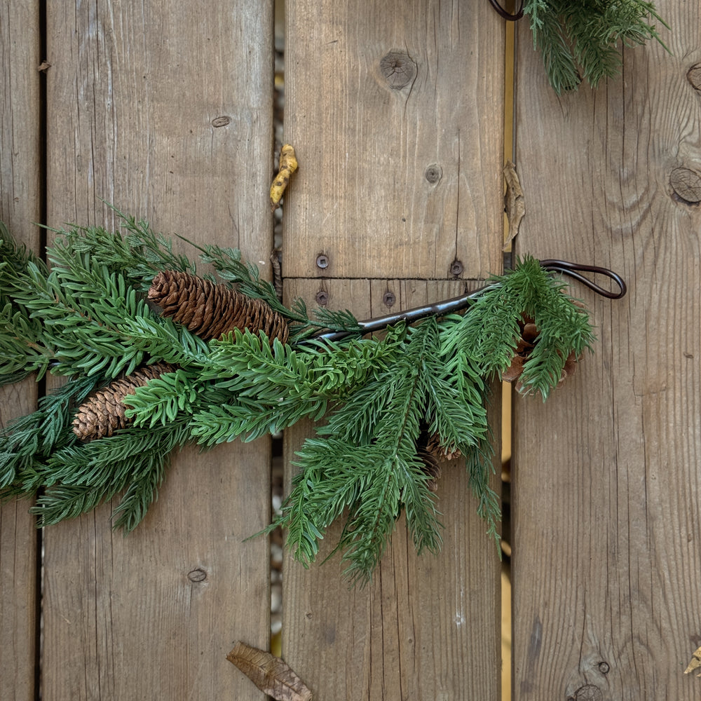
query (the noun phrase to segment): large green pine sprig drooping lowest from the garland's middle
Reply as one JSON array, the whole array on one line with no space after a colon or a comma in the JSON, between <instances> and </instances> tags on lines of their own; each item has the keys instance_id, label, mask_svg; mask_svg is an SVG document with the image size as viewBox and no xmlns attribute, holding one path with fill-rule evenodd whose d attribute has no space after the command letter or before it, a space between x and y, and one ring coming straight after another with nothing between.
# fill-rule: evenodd
<instances>
[{"instance_id":1,"label":"large green pine sprig drooping lowest from the garland's middle","mask_svg":"<svg viewBox=\"0 0 701 701\"><path fill-rule=\"evenodd\" d=\"M437 346L434 319L407 329L391 370L370 382L380 382L385 397L374 428L355 411L351 395L351 401L318 430L318 437L302 447L298 464L303 469L279 519L289 529L287 544L300 562L313 560L319 537L313 534L324 533L346 508L349 515L338 547L348 564L346 576L354 583L372 578L402 508L407 509L417 550L440 547L435 503L416 457L432 379L427 361Z\"/></svg>"}]
</instances>

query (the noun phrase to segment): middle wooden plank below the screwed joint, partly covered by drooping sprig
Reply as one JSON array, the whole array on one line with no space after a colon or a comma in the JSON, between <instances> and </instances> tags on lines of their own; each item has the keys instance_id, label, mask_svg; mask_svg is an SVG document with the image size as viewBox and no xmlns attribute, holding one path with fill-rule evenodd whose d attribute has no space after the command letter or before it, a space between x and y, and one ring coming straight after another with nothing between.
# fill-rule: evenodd
<instances>
[{"instance_id":1,"label":"middle wooden plank below the screwed joint, partly covered by drooping sprig","mask_svg":"<svg viewBox=\"0 0 701 701\"><path fill-rule=\"evenodd\" d=\"M323 289L329 304L352 301L353 311L365 318L388 311L383 301L388 291L397 306L409 308L464 289L464 283L426 280L286 280L285 285L287 299L302 297L312 308ZM498 435L497 414L495 407L492 425ZM285 431L288 493L294 472L290 456L309 431L309 426ZM308 570L285 559L283 655L315 697L499 697L499 562L475 512L463 461L443 466L437 496L446 526L442 552L417 556L402 517L372 584L362 590L348 590L337 554ZM318 563L340 533L339 524L327 531Z\"/></svg>"}]
</instances>

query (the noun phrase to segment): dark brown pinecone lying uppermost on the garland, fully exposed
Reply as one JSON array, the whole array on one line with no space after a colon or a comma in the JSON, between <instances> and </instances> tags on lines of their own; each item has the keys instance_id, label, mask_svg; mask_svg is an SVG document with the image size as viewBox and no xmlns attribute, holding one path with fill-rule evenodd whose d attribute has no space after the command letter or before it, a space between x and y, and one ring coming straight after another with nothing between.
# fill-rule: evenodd
<instances>
[{"instance_id":1,"label":"dark brown pinecone lying uppermost on the garland, fully exposed","mask_svg":"<svg viewBox=\"0 0 701 701\"><path fill-rule=\"evenodd\" d=\"M253 334L262 329L271 341L287 343L287 321L266 301L190 273L158 273L151 283L149 299L163 308L164 316L205 341L218 339L233 329L249 329Z\"/></svg>"}]
</instances>

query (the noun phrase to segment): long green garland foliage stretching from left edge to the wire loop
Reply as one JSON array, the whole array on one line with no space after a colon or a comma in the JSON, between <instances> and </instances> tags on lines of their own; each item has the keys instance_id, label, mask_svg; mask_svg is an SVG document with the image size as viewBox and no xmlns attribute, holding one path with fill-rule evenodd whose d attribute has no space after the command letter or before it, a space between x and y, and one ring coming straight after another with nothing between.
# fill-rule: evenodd
<instances>
[{"instance_id":1,"label":"long green garland foliage stretching from left edge to the wire loop","mask_svg":"<svg viewBox=\"0 0 701 701\"><path fill-rule=\"evenodd\" d=\"M477 508L498 539L490 380L510 364L524 314L540 340L523 386L543 399L567 355L593 341L583 308L538 261L493 278L461 315L402 322L380 338L362 337L348 311L310 318L301 301L286 308L240 252L198 247L198 262L215 271L210 279L264 299L290 322L284 345L246 329L205 342L158 315L145 294L159 271L195 272L195 262L145 222L123 222L124 236L95 227L57 232L49 265L0 231L0 381L46 372L67 378L0 434L2 496L39 492L40 525L120 496L114 525L130 530L156 498L172 451L255 440L306 417L315 435L297 454L294 488L271 526L285 526L304 564L340 517L338 548L354 582L372 576L402 511L418 551L440 548L440 514L417 453L422 430L465 456ZM320 339L320 329L348 336ZM72 418L93 390L161 360L177 369L128 395L128 428L78 440Z\"/></svg>"}]
</instances>

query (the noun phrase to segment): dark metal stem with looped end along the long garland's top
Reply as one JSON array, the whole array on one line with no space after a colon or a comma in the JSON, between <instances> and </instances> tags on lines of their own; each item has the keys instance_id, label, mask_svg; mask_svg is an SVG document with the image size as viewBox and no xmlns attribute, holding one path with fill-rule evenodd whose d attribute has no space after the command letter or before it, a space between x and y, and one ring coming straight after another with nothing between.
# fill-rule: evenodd
<instances>
[{"instance_id":1,"label":"dark metal stem with looped end along the long garland's top","mask_svg":"<svg viewBox=\"0 0 701 701\"><path fill-rule=\"evenodd\" d=\"M608 268L601 268L596 265L580 265L578 263L571 263L570 261L563 261L558 259L547 259L540 261L540 266L550 273L560 273L562 275L568 275L570 278L577 280L579 283L589 287L597 294L601 294L602 297L607 297L608 299L620 299L626 292L626 286L623 278L621 278L618 273L614 273ZM606 290L601 285L597 285L590 278L582 273L595 273L596 275L604 275L604 277L613 280L613 282L618 285L618 290ZM479 290L474 292L469 292L468 294L463 294L461 297L453 297L451 299L444 299L444 301L435 302L434 304L425 304L420 307L414 307L412 309L407 309L405 311L395 312L394 314L388 314L385 316L380 316L376 319L368 319L366 321L360 321L360 331L358 332L348 332L348 331L330 331L322 334L317 334L313 336L315 339L325 340L325 341L340 341L348 336L365 336L365 334L372 334L377 331L381 331L388 326L398 324L400 322L407 322L409 324L418 321L420 319L426 318L428 316L443 316L446 314L451 314L456 311L462 311L464 308L470 306L470 302L476 299L481 294L486 292L486 290L491 290L494 287L498 287L499 283L490 283L484 287L480 287Z\"/></svg>"}]
</instances>

